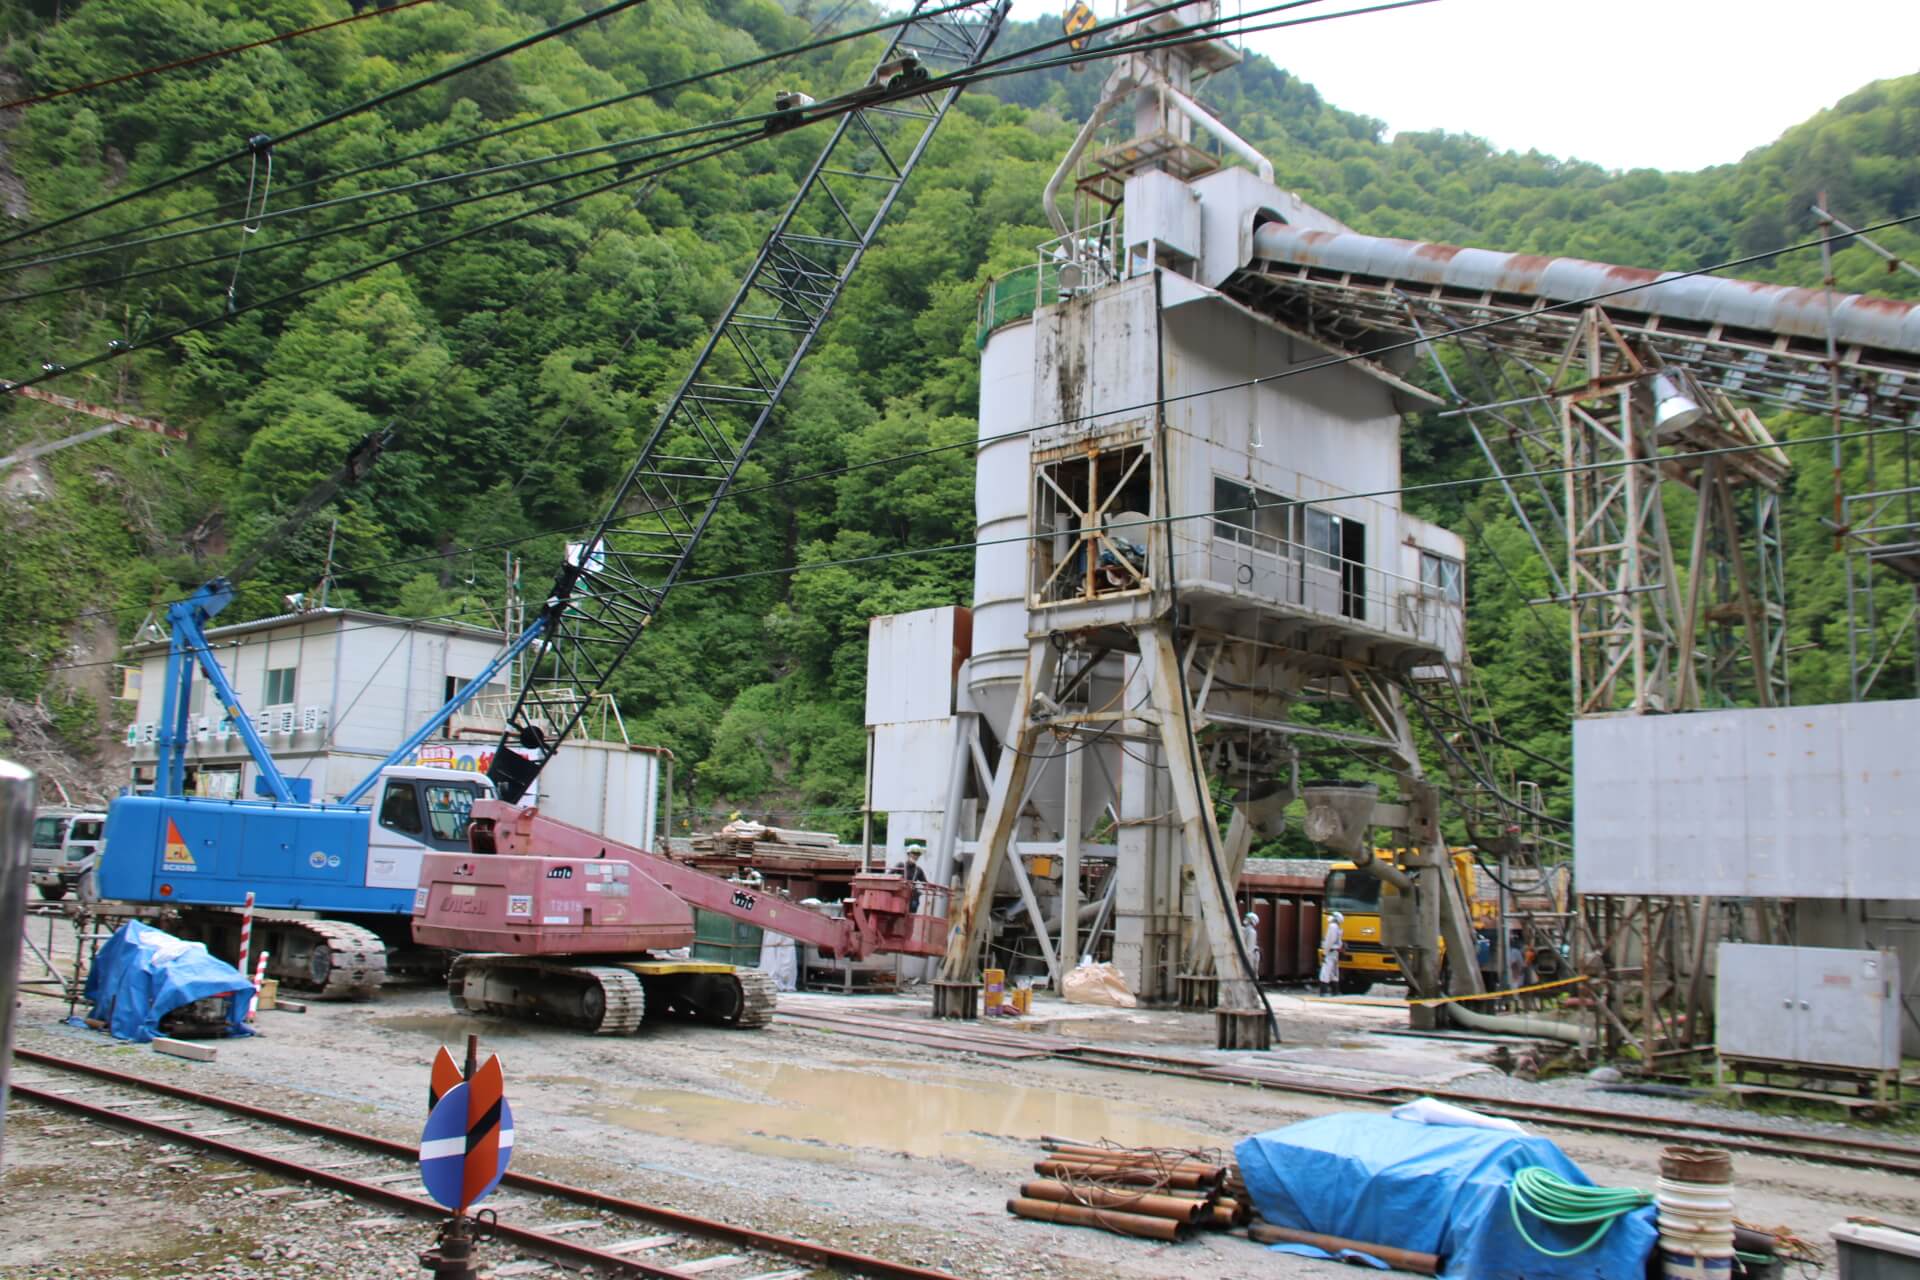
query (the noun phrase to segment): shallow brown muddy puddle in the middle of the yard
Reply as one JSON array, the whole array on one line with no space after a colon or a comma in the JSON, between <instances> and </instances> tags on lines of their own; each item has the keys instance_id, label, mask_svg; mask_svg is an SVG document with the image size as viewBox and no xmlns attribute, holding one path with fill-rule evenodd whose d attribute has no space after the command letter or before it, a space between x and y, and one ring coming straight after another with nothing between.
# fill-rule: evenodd
<instances>
[{"instance_id":1,"label":"shallow brown muddy puddle in the middle of the yard","mask_svg":"<svg viewBox=\"0 0 1920 1280\"><path fill-rule=\"evenodd\" d=\"M1212 1146L1164 1123L1146 1107L1041 1086L970 1086L831 1067L774 1065L737 1071L735 1084L758 1100L691 1090L626 1090L595 1117L639 1132L710 1142L766 1155L849 1161L856 1151L1004 1161L1041 1134L1125 1146Z\"/></svg>"}]
</instances>

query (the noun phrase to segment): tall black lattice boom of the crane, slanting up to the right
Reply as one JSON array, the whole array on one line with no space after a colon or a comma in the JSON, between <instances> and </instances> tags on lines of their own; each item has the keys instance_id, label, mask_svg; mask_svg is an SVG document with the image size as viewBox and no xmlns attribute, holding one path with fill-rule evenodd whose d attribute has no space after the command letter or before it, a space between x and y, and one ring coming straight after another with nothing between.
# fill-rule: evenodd
<instances>
[{"instance_id":1,"label":"tall black lattice boom of the crane, slanting up to the right","mask_svg":"<svg viewBox=\"0 0 1920 1280\"><path fill-rule=\"evenodd\" d=\"M833 136L760 246L733 301L614 489L593 533L568 553L541 608L540 651L488 775L518 800L666 603L741 462L860 265L893 201L960 96L899 90L985 58L1008 0L939 8L918 0L876 63L876 102ZM770 121L780 132L787 121ZM518 750L515 750L518 748Z\"/></svg>"}]
</instances>

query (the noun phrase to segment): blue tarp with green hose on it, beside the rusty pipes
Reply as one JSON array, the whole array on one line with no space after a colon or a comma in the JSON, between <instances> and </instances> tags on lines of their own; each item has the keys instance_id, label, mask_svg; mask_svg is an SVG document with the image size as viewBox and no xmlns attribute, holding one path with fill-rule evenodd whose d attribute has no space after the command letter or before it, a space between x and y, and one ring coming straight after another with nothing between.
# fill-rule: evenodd
<instances>
[{"instance_id":1,"label":"blue tarp with green hose on it, beside the rusty pipes","mask_svg":"<svg viewBox=\"0 0 1920 1280\"><path fill-rule=\"evenodd\" d=\"M1548 1257L1521 1240L1507 1211L1517 1169L1544 1165L1592 1186L1546 1138L1390 1115L1323 1115L1242 1138L1235 1157L1265 1221L1438 1253L1440 1274L1457 1280L1638 1280L1657 1240L1651 1205L1619 1219L1578 1257ZM1544 1245L1569 1249L1594 1228L1534 1219L1526 1230Z\"/></svg>"}]
</instances>

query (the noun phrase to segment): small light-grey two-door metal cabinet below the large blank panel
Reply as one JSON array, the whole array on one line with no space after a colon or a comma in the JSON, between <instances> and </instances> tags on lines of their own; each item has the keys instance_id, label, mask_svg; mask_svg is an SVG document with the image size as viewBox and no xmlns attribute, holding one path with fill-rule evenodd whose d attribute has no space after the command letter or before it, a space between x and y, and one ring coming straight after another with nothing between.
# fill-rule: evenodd
<instances>
[{"instance_id":1,"label":"small light-grey two-door metal cabinet below the large blank panel","mask_svg":"<svg viewBox=\"0 0 1920 1280\"><path fill-rule=\"evenodd\" d=\"M1716 996L1720 1057L1901 1065L1901 969L1891 950L1722 942Z\"/></svg>"}]
</instances>

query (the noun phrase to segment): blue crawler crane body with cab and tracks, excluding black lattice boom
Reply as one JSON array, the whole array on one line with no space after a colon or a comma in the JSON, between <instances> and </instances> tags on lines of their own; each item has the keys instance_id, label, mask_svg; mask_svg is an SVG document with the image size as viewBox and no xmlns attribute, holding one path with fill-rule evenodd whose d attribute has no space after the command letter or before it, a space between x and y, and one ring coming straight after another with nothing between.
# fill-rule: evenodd
<instances>
[{"instance_id":1,"label":"blue crawler crane body with cab and tracks, excluding black lattice boom","mask_svg":"<svg viewBox=\"0 0 1920 1280\"><path fill-rule=\"evenodd\" d=\"M240 908L252 892L252 948L255 956L271 954L269 977L321 996L372 996L390 958L399 961L396 967L444 969L444 956L409 940L420 854L465 850L472 802L492 796L493 787L468 771L397 762L532 645L545 618L534 620L338 802L315 802L313 779L286 777L275 764L207 645L207 622L230 601L232 585L213 580L167 610L154 794L123 794L108 808L96 873L102 912L165 913L180 936L234 956ZM196 670L259 766L255 800L184 794ZM374 789L378 802L363 804Z\"/></svg>"}]
</instances>

